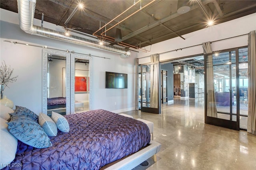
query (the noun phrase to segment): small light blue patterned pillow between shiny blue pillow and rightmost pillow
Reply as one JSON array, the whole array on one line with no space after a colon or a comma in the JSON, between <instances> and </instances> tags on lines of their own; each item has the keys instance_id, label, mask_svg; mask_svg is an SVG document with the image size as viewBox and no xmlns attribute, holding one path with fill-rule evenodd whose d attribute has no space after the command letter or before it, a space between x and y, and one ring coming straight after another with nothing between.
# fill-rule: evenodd
<instances>
[{"instance_id":1,"label":"small light blue patterned pillow between shiny blue pillow and rightmost pillow","mask_svg":"<svg viewBox=\"0 0 256 170\"><path fill-rule=\"evenodd\" d=\"M55 122L46 114L40 113L38 116L38 123L44 129L48 136L56 136L58 133Z\"/></svg>"}]
</instances>

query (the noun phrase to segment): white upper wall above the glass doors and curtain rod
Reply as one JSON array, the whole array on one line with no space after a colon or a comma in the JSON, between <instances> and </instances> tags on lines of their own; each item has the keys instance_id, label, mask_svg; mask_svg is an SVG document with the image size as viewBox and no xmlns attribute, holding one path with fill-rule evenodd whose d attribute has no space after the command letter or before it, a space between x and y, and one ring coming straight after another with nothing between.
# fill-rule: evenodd
<instances>
[{"instance_id":1,"label":"white upper wall above the glass doors and curtain rod","mask_svg":"<svg viewBox=\"0 0 256 170\"><path fill-rule=\"evenodd\" d=\"M137 57L146 57L143 59L139 59L139 64L150 63L150 57L147 56L150 56L151 54L164 53L167 51L182 49L193 45L199 46L173 51L162 55L160 54L160 61L175 59L178 57L186 57L190 55L198 55L203 53L203 48L201 44L207 41L217 41L212 43L212 51L242 47L248 45L248 35L223 41L218 40L247 34L253 30L256 30L256 13L225 23L220 23L218 25L214 25L205 29L194 31L186 35L182 35L185 40L180 37L176 37L173 39L162 41L160 43L153 44L150 52L139 52L137 54ZM146 47L146 49L150 49L150 47L148 46Z\"/></svg>"}]
</instances>

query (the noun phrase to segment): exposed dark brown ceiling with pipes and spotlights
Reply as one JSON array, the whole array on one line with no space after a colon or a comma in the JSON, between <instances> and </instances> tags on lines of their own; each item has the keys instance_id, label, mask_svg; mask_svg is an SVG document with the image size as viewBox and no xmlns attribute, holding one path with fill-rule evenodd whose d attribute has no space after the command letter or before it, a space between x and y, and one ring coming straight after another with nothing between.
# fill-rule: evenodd
<instances>
[{"instance_id":1,"label":"exposed dark brown ceiling with pipes and spotlights","mask_svg":"<svg viewBox=\"0 0 256 170\"><path fill-rule=\"evenodd\" d=\"M79 2L83 9L75 10ZM183 2L190 10L179 14ZM16 0L0 3L1 8L18 12ZM256 0L37 0L34 18L44 16L44 21L62 26L63 32L96 35L110 45L143 51L142 47L167 39L184 39L182 35L208 27L208 19L219 24L255 12ZM121 42L115 41L116 28L121 29Z\"/></svg>"}]
</instances>

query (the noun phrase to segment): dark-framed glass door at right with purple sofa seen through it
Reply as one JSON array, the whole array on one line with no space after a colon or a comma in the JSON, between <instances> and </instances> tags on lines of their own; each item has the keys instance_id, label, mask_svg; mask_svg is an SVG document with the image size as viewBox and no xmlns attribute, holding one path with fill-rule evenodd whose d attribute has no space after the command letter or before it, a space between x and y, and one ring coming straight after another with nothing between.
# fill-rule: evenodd
<instances>
[{"instance_id":1,"label":"dark-framed glass door at right with purple sofa seen through it","mask_svg":"<svg viewBox=\"0 0 256 170\"><path fill-rule=\"evenodd\" d=\"M204 55L205 123L239 130L248 116L248 49ZM240 115L241 113L241 115ZM240 121L242 121L240 124Z\"/></svg>"}]
</instances>

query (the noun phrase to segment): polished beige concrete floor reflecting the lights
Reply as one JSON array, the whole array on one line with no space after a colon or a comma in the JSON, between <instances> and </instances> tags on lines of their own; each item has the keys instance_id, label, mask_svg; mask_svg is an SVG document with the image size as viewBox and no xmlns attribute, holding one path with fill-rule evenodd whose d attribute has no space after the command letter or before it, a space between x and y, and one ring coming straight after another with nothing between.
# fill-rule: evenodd
<instances>
[{"instance_id":1,"label":"polished beige concrete floor reflecting the lights","mask_svg":"<svg viewBox=\"0 0 256 170\"><path fill-rule=\"evenodd\" d=\"M162 113L123 112L154 123L157 162L134 170L256 170L256 136L204 123L204 102L174 99Z\"/></svg>"}]
</instances>

